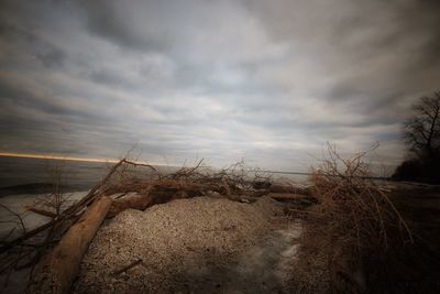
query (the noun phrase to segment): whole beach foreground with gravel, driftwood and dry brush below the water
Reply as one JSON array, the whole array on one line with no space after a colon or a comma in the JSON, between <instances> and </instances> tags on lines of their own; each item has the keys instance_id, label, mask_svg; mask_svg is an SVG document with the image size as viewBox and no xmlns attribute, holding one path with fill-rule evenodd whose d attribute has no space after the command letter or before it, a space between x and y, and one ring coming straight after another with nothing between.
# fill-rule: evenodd
<instances>
[{"instance_id":1,"label":"whole beach foreground with gravel, driftwood and dry brush below the water","mask_svg":"<svg viewBox=\"0 0 440 294\"><path fill-rule=\"evenodd\" d=\"M438 186L341 176L336 170L316 171L310 186L250 177L244 165L212 172L200 163L172 173L145 165L153 173L141 176L125 173L138 163L121 160L91 189L61 194L67 202L58 214L38 206L56 194L2 196L2 259L10 270L0 276L2 291L354 293L374 281L366 280L366 271L382 271L375 265L378 254L408 255L410 270L397 261L383 263L395 276L426 275L437 266L430 254L438 242L431 233L438 230ZM369 218L360 220L363 215ZM362 242L359 221L365 226ZM377 231L385 221L386 229ZM31 257L43 254L21 266L30 261L23 248ZM364 253L360 263L361 248L376 254ZM11 262L15 257L19 263ZM435 277L422 288L436 286Z\"/></svg>"}]
</instances>

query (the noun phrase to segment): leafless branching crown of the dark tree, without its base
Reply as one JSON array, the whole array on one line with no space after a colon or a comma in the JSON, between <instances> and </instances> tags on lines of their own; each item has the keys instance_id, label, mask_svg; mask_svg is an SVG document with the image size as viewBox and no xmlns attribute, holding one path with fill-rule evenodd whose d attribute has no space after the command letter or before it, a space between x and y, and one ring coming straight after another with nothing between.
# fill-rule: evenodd
<instances>
[{"instance_id":1,"label":"leafless branching crown of the dark tree, without its base","mask_svg":"<svg viewBox=\"0 0 440 294\"><path fill-rule=\"evenodd\" d=\"M432 156L440 149L440 91L424 96L413 105L413 116L404 127L404 138L410 151L419 156Z\"/></svg>"}]
</instances>

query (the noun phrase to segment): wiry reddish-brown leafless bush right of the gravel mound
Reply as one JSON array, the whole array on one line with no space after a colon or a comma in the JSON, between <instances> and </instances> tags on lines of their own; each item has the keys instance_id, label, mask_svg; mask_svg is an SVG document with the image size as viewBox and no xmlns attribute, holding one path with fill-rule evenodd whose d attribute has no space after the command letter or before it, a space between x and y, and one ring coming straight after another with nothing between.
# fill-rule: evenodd
<instances>
[{"instance_id":1,"label":"wiry reddish-brown leafless bush right of the gravel mound","mask_svg":"<svg viewBox=\"0 0 440 294\"><path fill-rule=\"evenodd\" d=\"M358 253L387 250L389 233L398 232L403 242L413 242L408 226L387 196L389 190L376 184L370 172L364 161L367 152L345 160L329 144L328 157L311 175L312 193L320 204L318 218L326 219L334 233L352 239Z\"/></svg>"}]
</instances>

